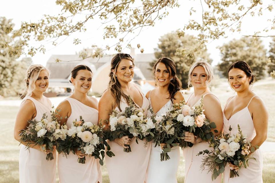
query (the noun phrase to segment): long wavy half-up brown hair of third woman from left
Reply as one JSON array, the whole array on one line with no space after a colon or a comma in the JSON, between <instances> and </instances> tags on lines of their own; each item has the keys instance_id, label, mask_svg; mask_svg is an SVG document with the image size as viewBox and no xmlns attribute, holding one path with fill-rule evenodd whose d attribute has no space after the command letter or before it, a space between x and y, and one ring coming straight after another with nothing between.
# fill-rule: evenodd
<instances>
[{"instance_id":1,"label":"long wavy half-up brown hair of third woman from left","mask_svg":"<svg viewBox=\"0 0 275 183\"><path fill-rule=\"evenodd\" d=\"M115 77L115 73L117 72L117 66L122 59L130 60L133 63L133 67L135 66L134 59L129 54L117 53L111 60L111 71L109 73L110 81L108 84L108 89L111 91L111 93L115 99L113 108L115 108L117 106L120 111L121 111L121 108L120 108L121 96L125 99L125 101L129 105L128 96L123 93L123 91L121 89L121 85L120 85L119 81L117 80L117 78Z\"/></svg>"}]
</instances>

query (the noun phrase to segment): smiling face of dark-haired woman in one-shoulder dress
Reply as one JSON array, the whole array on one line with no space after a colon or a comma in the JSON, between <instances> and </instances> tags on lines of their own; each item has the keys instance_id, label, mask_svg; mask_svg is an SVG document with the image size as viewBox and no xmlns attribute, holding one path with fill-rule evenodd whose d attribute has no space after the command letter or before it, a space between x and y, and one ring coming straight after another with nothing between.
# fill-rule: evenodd
<instances>
[{"instance_id":1,"label":"smiling face of dark-haired woman in one-shoulder dress","mask_svg":"<svg viewBox=\"0 0 275 183\"><path fill-rule=\"evenodd\" d=\"M92 86L92 72L89 70L79 70L75 78L71 77L74 90L87 93Z\"/></svg>"}]
</instances>

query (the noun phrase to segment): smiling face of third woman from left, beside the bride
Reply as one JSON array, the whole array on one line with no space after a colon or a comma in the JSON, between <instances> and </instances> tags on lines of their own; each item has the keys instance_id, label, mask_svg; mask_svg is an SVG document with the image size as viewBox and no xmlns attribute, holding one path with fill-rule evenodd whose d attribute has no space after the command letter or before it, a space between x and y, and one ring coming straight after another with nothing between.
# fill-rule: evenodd
<instances>
[{"instance_id":1,"label":"smiling face of third woman from left, beside the bride","mask_svg":"<svg viewBox=\"0 0 275 183\"><path fill-rule=\"evenodd\" d=\"M131 60L122 59L117 65L115 75L119 82L130 82L134 77L134 66Z\"/></svg>"}]
</instances>

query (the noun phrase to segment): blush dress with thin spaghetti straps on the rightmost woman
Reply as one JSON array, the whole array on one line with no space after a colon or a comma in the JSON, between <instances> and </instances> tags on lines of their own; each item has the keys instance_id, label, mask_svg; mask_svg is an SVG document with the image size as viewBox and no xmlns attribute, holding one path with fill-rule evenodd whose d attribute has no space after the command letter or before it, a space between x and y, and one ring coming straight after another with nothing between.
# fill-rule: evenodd
<instances>
[{"instance_id":1,"label":"blush dress with thin spaghetti straps on the rightmost woman","mask_svg":"<svg viewBox=\"0 0 275 183\"><path fill-rule=\"evenodd\" d=\"M256 96L254 96L256 97ZM251 100L254 98L252 97ZM234 97L232 97L234 98ZM232 100L232 98L230 100ZM230 100L228 102L230 102ZM248 106L251 102L247 104L245 108L233 114L229 120L226 119L223 110L223 132L225 134L237 134L238 133L238 124L241 128L243 135L247 135L247 141L253 140L256 136L256 131L254 128L253 120L251 114L248 110ZM227 104L228 104L227 102ZM226 108L227 104L225 105L224 109ZM231 126L232 130L229 131L229 126ZM262 170L263 170L263 156L261 149L257 149L253 154L252 157L256 158L255 160L248 160L249 166L247 168L241 167L239 172L239 177L229 178L230 176L230 167L226 166L223 176L224 176L224 183L261 183L262 180Z\"/></svg>"}]
</instances>

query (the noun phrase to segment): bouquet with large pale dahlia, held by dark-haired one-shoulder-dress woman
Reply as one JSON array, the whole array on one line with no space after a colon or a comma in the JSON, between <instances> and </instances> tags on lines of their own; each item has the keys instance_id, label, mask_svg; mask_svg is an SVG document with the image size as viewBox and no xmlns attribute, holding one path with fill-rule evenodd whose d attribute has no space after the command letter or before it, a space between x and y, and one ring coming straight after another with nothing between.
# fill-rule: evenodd
<instances>
[{"instance_id":1,"label":"bouquet with large pale dahlia, held by dark-haired one-shoulder-dress woman","mask_svg":"<svg viewBox=\"0 0 275 183\"><path fill-rule=\"evenodd\" d=\"M75 153L74 148L78 148L77 150L80 150L83 154L95 156L95 159L99 158L99 163L101 165L103 165L103 159L105 156L104 151L102 150L105 150L105 146L107 146L108 150L107 155L112 154L114 156L113 152L109 151L110 146L105 140L103 128L93 124L92 122L85 122L82 119L82 116L80 116L80 121L75 120L73 126L68 129L66 144L64 153L69 154L70 150ZM78 163L85 164L85 156L84 158L78 158Z\"/></svg>"}]
</instances>

